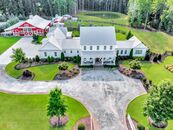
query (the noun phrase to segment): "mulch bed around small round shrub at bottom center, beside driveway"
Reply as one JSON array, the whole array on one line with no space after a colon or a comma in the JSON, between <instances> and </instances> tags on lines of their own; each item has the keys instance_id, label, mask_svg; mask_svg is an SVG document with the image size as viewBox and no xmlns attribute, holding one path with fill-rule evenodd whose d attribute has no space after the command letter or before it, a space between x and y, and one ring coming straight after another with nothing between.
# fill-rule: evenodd
<instances>
[{"instance_id":1,"label":"mulch bed around small round shrub at bottom center, beside driveway","mask_svg":"<svg viewBox=\"0 0 173 130\"><path fill-rule=\"evenodd\" d=\"M90 117L82 118L80 119L76 125L73 127L72 130L78 130L78 125L84 124L85 125L85 130L91 130L91 119Z\"/></svg>"}]
</instances>

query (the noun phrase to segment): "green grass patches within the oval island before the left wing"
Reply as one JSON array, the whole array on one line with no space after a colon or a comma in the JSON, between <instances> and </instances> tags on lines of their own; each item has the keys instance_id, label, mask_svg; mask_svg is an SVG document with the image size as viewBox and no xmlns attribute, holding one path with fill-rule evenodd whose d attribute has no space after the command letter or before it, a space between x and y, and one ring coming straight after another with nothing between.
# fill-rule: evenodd
<instances>
[{"instance_id":1,"label":"green grass patches within the oval island before the left wing","mask_svg":"<svg viewBox=\"0 0 173 130\"><path fill-rule=\"evenodd\" d=\"M72 69L74 67L73 63L67 63L68 69ZM11 62L8 64L5 68L5 71L8 75L19 78L22 75L23 70L16 70L15 66L17 63ZM60 72L58 68L58 64L48 64L48 65L41 65L36 67L30 67L27 68L27 70L30 70L35 74L35 77L33 80L35 81L51 81L54 79L55 75Z\"/></svg>"}]
</instances>

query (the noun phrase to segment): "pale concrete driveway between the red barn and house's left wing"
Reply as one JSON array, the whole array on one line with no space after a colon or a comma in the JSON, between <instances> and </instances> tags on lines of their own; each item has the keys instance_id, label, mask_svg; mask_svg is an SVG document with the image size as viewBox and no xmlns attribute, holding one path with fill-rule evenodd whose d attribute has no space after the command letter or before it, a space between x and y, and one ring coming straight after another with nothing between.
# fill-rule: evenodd
<instances>
[{"instance_id":1,"label":"pale concrete driveway between the red barn and house's left wing","mask_svg":"<svg viewBox=\"0 0 173 130\"><path fill-rule=\"evenodd\" d=\"M38 49L41 45L32 44L31 37L21 38L18 42L16 42L12 47L10 47L7 51L0 55L0 64L7 65L11 62L10 56L12 55L13 48L22 48L22 50L26 53L26 57L32 58L38 55Z\"/></svg>"}]
</instances>

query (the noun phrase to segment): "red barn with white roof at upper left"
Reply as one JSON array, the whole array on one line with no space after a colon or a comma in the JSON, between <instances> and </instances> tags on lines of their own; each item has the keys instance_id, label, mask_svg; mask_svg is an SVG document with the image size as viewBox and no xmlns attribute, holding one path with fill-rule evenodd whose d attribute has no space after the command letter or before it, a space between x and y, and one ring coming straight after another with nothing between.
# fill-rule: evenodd
<instances>
[{"instance_id":1,"label":"red barn with white roof at upper left","mask_svg":"<svg viewBox=\"0 0 173 130\"><path fill-rule=\"evenodd\" d=\"M32 36L33 34L43 36L49 31L51 21L41 18L38 15L30 19L5 29L5 32L11 32L14 36Z\"/></svg>"}]
</instances>

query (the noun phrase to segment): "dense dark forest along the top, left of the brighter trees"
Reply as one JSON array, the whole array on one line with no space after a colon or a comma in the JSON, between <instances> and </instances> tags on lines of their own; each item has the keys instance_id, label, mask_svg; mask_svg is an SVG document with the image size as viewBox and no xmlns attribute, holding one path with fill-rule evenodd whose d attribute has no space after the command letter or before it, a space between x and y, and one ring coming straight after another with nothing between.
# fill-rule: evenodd
<instances>
[{"instance_id":1,"label":"dense dark forest along the top, left of the brighter trees","mask_svg":"<svg viewBox=\"0 0 173 130\"><path fill-rule=\"evenodd\" d=\"M79 10L104 10L127 12L128 0L0 0L0 11L4 15L26 17L30 14L55 16L76 14Z\"/></svg>"}]
</instances>

